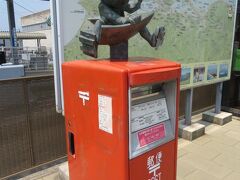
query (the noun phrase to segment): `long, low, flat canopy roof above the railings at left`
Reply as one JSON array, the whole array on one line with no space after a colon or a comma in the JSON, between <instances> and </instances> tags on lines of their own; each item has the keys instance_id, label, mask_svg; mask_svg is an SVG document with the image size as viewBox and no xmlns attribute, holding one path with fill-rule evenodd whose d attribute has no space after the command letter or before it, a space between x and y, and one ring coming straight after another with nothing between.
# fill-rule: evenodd
<instances>
[{"instance_id":1,"label":"long, low, flat canopy roof above the railings at left","mask_svg":"<svg viewBox=\"0 0 240 180\"><path fill-rule=\"evenodd\" d=\"M0 32L0 39L10 39L9 32ZM44 33L17 32L17 39L47 39Z\"/></svg>"}]
</instances>

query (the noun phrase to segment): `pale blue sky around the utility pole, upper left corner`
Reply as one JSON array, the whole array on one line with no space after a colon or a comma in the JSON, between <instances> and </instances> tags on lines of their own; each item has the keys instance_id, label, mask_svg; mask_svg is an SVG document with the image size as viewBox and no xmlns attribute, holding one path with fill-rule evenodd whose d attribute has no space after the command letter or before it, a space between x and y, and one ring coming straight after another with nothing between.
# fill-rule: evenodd
<instances>
[{"instance_id":1,"label":"pale blue sky around the utility pole, upper left corner","mask_svg":"<svg viewBox=\"0 0 240 180\"><path fill-rule=\"evenodd\" d=\"M20 18L31 14L30 11L38 12L45 9L49 9L48 1L41 0L14 0L14 10L15 10L15 21L17 30L21 29ZM19 5L25 7L26 10ZM6 0L0 0L0 31L8 31L8 14L7 14L7 3Z\"/></svg>"}]
</instances>

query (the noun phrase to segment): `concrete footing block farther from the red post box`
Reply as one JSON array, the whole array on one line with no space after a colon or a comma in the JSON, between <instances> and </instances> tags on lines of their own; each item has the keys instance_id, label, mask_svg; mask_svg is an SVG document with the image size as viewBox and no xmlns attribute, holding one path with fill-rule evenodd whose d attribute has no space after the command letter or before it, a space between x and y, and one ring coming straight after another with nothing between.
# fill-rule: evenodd
<instances>
[{"instance_id":1,"label":"concrete footing block farther from the red post box","mask_svg":"<svg viewBox=\"0 0 240 180\"><path fill-rule=\"evenodd\" d=\"M202 114L202 120L223 126L232 121L232 114L227 112L216 114L213 111L207 111Z\"/></svg>"}]
</instances>

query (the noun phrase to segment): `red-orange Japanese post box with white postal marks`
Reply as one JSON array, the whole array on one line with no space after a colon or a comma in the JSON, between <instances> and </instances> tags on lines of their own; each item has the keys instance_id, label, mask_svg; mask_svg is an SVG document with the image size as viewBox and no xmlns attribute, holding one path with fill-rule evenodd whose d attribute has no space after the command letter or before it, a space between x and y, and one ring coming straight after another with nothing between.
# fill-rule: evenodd
<instances>
[{"instance_id":1,"label":"red-orange Japanese post box with white postal marks","mask_svg":"<svg viewBox=\"0 0 240 180\"><path fill-rule=\"evenodd\" d=\"M180 65L64 63L71 180L175 180Z\"/></svg>"}]
</instances>

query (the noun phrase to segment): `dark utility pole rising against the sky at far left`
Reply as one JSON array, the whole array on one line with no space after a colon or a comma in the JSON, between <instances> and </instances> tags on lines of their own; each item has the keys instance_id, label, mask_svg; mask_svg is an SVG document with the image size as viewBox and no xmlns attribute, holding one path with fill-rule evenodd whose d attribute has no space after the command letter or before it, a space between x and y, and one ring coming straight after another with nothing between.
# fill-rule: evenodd
<instances>
[{"instance_id":1,"label":"dark utility pole rising against the sky at far left","mask_svg":"<svg viewBox=\"0 0 240 180\"><path fill-rule=\"evenodd\" d=\"M10 34L11 47L12 47L13 63L18 64L17 49L16 49L17 48L17 33L16 33L13 0L7 0L7 8L8 8L9 34Z\"/></svg>"}]
</instances>

